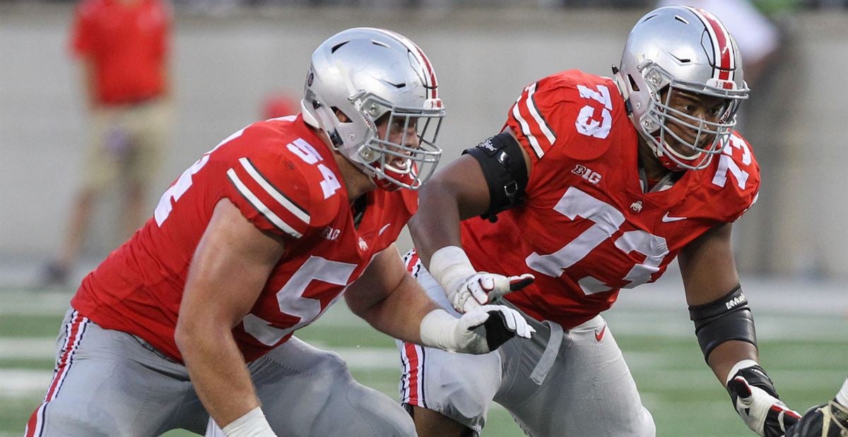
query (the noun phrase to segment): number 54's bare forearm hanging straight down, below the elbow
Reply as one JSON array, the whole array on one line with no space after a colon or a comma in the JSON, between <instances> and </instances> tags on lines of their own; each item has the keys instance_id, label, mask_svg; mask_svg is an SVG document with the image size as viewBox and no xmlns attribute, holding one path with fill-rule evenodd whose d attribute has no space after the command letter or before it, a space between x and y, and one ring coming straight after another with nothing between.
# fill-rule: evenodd
<instances>
[{"instance_id":1,"label":"number 54's bare forearm hanging straight down, below the elbow","mask_svg":"<svg viewBox=\"0 0 848 437\"><path fill-rule=\"evenodd\" d=\"M259 407L259 400L232 332L218 326L178 326L176 344L200 401L223 428Z\"/></svg>"}]
</instances>

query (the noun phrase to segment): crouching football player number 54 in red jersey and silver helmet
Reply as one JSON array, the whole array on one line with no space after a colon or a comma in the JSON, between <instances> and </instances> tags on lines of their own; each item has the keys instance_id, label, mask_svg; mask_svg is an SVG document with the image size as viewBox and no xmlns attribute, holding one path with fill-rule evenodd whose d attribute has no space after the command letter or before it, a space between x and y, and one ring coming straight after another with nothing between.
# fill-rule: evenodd
<instances>
[{"instance_id":1,"label":"crouching football player number 54 in red jersey and silver helmet","mask_svg":"<svg viewBox=\"0 0 848 437\"><path fill-rule=\"evenodd\" d=\"M530 336L507 307L450 316L393 245L443 116L432 66L404 36L358 28L321 44L302 113L221 141L86 276L27 435L413 434L397 403L292 335L344 296L427 346L484 353Z\"/></svg>"}]
</instances>

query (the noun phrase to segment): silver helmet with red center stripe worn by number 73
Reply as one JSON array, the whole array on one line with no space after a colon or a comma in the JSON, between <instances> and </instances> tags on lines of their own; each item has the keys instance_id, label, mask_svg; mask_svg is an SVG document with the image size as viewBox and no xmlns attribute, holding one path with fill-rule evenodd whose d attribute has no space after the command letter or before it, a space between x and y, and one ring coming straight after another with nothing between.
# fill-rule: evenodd
<instances>
[{"instance_id":1,"label":"silver helmet with red center stripe worn by number 73","mask_svg":"<svg viewBox=\"0 0 848 437\"><path fill-rule=\"evenodd\" d=\"M658 8L639 19L624 46L616 83L636 130L672 170L709 165L727 144L739 103L749 93L733 36L713 14L689 6ZM676 91L725 99L717 123L671 108ZM694 132L694 139L674 133L670 124ZM691 153L672 148L670 137Z\"/></svg>"}]
</instances>

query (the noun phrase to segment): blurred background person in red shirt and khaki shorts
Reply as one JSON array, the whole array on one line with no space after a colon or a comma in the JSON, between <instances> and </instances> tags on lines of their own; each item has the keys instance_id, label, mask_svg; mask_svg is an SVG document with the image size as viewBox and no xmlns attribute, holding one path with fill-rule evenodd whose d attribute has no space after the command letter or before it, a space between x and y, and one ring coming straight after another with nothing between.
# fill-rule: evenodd
<instances>
[{"instance_id":1,"label":"blurred background person in red shirt and khaki shorts","mask_svg":"<svg viewBox=\"0 0 848 437\"><path fill-rule=\"evenodd\" d=\"M83 0L75 9L70 50L81 65L89 138L64 243L43 285L67 285L107 189L121 193L121 241L144 223L170 127L171 20L163 0Z\"/></svg>"}]
</instances>

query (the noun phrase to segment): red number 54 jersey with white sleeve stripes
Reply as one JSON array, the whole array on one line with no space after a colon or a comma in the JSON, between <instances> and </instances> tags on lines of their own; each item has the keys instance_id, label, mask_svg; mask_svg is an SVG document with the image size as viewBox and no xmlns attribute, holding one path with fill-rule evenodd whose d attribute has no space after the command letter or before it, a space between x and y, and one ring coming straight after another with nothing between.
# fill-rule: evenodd
<instances>
[{"instance_id":1,"label":"red number 54 jersey with white sleeve stripes","mask_svg":"<svg viewBox=\"0 0 848 437\"><path fill-rule=\"evenodd\" d=\"M310 324L415 213L415 191L371 191L358 227L332 152L301 116L252 124L204 154L165 191L153 218L82 281L71 305L106 329L181 360L177 313L192 255L215 205L229 199L285 252L233 329L248 361Z\"/></svg>"}]
</instances>

